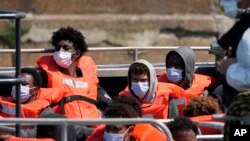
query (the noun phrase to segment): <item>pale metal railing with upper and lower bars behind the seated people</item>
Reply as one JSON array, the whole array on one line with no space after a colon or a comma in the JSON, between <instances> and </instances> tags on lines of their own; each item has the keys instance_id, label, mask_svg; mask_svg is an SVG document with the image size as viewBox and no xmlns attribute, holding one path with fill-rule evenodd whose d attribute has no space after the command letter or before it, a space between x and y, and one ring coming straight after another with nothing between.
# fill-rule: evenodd
<instances>
[{"instance_id":1,"label":"pale metal railing with upper and lower bars behind the seated people","mask_svg":"<svg viewBox=\"0 0 250 141\"><path fill-rule=\"evenodd\" d=\"M148 47L89 47L91 52L100 51L132 51L133 61L138 59L138 54L143 50L172 50L179 46L148 46ZM194 51L208 51L210 47L208 46L191 46ZM52 48L41 48L41 49L21 49L22 53L53 53ZM14 49L0 49L0 53L15 53ZM197 67L214 67L214 62L196 62ZM153 64L157 75L161 74L165 70L165 64ZM129 64L119 64L119 65L97 65L98 76L126 76ZM13 73L13 67L0 68L0 74Z\"/></svg>"}]
</instances>

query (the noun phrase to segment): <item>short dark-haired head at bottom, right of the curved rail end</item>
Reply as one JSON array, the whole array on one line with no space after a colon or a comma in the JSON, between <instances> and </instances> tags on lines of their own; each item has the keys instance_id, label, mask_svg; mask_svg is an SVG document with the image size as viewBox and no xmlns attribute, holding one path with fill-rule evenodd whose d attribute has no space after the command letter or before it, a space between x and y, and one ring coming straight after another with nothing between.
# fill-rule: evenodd
<instances>
[{"instance_id":1,"label":"short dark-haired head at bottom, right of the curved rail end","mask_svg":"<svg viewBox=\"0 0 250 141\"><path fill-rule=\"evenodd\" d=\"M167 124L174 141L197 141L199 134L197 125L187 117L178 116Z\"/></svg>"}]
</instances>

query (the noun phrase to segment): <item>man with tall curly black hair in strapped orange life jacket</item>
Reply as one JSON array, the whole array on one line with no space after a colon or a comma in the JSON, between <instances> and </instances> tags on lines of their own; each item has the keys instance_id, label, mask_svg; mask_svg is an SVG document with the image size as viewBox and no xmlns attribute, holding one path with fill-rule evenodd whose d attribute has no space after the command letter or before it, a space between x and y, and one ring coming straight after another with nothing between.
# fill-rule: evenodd
<instances>
[{"instance_id":1,"label":"man with tall curly black hair in strapped orange life jacket","mask_svg":"<svg viewBox=\"0 0 250 141\"><path fill-rule=\"evenodd\" d=\"M88 51L85 37L72 27L60 28L52 35L55 48L53 56L37 60L48 77L48 87L62 88L66 94L58 113L68 118L100 118L96 107L97 83L96 65L91 57L83 55Z\"/></svg>"}]
</instances>

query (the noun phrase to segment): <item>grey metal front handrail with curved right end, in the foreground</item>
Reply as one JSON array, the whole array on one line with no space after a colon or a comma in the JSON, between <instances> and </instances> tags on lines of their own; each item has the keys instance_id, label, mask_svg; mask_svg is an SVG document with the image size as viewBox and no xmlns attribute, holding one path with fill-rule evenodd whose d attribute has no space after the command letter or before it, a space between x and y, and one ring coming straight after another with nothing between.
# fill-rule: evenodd
<instances>
[{"instance_id":1,"label":"grey metal front handrail with curved right end, in the foreground","mask_svg":"<svg viewBox=\"0 0 250 141\"><path fill-rule=\"evenodd\" d=\"M138 118L109 118L109 119L64 119L64 118L1 118L0 123L16 123L16 124L28 124L28 125L62 125L63 132L61 133L62 139L67 140L67 125L96 125L96 124L137 124L137 123L149 123L155 125L161 129L161 131L167 136L169 141L172 140L172 134L165 124L154 119L138 119Z\"/></svg>"}]
</instances>

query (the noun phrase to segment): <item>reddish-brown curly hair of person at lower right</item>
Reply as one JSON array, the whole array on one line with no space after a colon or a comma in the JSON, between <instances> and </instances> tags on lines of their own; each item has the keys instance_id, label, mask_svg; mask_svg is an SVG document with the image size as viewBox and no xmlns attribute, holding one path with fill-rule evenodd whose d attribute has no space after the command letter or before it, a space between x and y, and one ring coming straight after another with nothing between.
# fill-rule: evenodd
<instances>
[{"instance_id":1,"label":"reddish-brown curly hair of person at lower right","mask_svg":"<svg viewBox=\"0 0 250 141\"><path fill-rule=\"evenodd\" d=\"M220 110L219 101L212 96L195 96L183 109L183 115L187 117L215 114Z\"/></svg>"}]
</instances>

